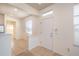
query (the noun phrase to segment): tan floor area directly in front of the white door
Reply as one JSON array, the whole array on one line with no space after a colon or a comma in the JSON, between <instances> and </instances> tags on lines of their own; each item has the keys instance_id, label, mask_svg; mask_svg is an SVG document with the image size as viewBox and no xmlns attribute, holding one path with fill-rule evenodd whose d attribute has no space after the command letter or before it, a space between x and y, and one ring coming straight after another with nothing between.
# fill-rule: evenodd
<instances>
[{"instance_id":1,"label":"tan floor area directly in front of the white door","mask_svg":"<svg viewBox=\"0 0 79 59\"><path fill-rule=\"evenodd\" d=\"M36 56L59 56L59 54L40 46L32 49L31 53Z\"/></svg>"}]
</instances>

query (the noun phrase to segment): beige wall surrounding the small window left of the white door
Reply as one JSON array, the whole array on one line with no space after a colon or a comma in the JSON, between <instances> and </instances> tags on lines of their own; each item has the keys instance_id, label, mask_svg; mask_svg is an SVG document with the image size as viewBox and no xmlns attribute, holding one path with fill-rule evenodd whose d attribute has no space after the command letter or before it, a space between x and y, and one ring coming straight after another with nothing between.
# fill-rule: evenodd
<instances>
[{"instance_id":1,"label":"beige wall surrounding the small window left of the white door","mask_svg":"<svg viewBox=\"0 0 79 59\"><path fill-rule=\"evenodd\" d=\"M32 20L32 35L29 36L29 34L26 33L26 22L28 20ZM23 36L27 39L28 43L28 49L31 50L32 48L38 46L39 44L39 18L38 16L28 16L24 20L22 20L22 27L23 27Z\"/></svg>"}]
</instances>

